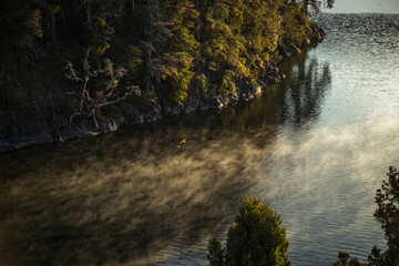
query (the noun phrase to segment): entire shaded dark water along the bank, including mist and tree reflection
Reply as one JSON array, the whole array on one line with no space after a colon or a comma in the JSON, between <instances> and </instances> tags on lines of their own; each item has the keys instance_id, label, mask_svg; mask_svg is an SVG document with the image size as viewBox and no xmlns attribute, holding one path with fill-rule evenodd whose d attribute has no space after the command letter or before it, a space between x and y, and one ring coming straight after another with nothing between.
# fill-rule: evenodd
<instances>
[{"instance_id":1,"label":"entire shaded dark water along the bank, including mist and tree reflection","mask_svg":"<svg viewBox=\"0 0 399 266\"><path fill-rule=\"evenodd\" d=\"M0 264L205 264L278 127L320 113L328 64L304 52L283 69L249 104L0 154Z\"/></svg>"}]
</instances>

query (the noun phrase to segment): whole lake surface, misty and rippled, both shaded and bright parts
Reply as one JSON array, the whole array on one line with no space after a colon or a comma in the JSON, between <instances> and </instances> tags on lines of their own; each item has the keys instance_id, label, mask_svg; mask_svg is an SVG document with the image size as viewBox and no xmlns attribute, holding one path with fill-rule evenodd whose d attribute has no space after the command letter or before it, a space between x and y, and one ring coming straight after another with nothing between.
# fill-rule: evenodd
<instances>
[{"instance_id":1,"label":"whole lake surface, misty and rippled, both shaded and bright parts","mask_svg":"<svg viewBox=\"0 0 399 266\"><path fill-rule=\"evenodd\" d=\"M372 213L399 166L399 16L317 20L326 39L250 104L0 154L0 265L207 265L246 195L277 208L293 265L383 248Z\"/></svg>"}]
</instances>

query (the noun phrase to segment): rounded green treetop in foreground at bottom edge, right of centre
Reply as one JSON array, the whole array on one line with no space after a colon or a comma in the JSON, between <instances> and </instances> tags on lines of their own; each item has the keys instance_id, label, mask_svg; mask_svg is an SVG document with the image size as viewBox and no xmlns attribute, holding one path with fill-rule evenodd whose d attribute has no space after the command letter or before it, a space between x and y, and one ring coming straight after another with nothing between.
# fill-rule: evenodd
<instances>
[{"instance_id":1,"label":"rounded green treetop in foreground at bottom edge, right of centre","mask_svg":"<svg viewBox=\"0 0 399 266\"><path fill-rule=\"evenodd\" d=\"M277 212L260 200L248 197L228 231L224 265L291 265L286 254L288 245ZM223 248L215 238L209 242L208 253L207 257L213 259L213 265L222 265Z\"/></svg>"}]
</instances>

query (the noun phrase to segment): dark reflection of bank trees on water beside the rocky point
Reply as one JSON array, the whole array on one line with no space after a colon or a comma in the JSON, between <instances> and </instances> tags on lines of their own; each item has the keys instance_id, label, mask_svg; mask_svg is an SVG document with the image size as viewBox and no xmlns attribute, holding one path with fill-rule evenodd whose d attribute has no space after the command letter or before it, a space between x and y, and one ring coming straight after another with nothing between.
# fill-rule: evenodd
<instances>
[{"instance_id":1,"label":"dark reflection of bank trees on water beside the rocky point","mask_svg":"<svg viewBox=\"0 0 399 266\"><path fill-rule=\"evenodd\" d=\"M186 116L178 125L239 132L276 127L287 122L300 125L317 120L330 90L331 72L328 62L319 64L316 57L309 58L314 48L315 45L285 61L282 70L287 78L268 86L250 104L194 115L193 120L192 116Z\"/></svg>"}]
</instances>

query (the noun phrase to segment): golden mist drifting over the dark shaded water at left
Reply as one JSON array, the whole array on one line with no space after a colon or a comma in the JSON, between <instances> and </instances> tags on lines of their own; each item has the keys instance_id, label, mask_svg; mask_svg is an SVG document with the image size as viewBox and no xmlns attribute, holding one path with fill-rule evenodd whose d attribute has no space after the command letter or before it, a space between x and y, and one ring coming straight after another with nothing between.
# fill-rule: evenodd
<instances>
[{"instance_id":1,"label":"golden mist drifting over the dark shaded water at left","mask_svg":"<svg viewBox=\"0 0 399 266\"><path fill-rule=\"evenodd\" d=\"M253 184L250 143L185 126L181 151L178 130L153 126L2 155L1 254L17 265L137 265L223 229Z\"/></svg>"}]
</instances>

